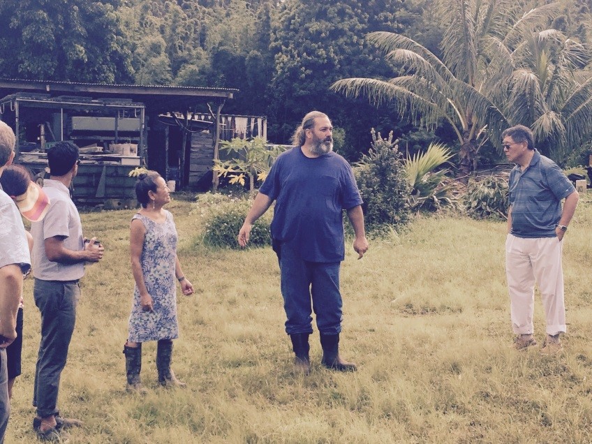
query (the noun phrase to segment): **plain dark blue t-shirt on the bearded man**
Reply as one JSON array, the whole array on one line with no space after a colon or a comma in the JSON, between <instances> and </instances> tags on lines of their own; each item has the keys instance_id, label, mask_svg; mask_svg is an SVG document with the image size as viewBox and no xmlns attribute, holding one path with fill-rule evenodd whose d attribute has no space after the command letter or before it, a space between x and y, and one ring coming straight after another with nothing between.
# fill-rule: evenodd
<instances>
[{"instance_id":1,"label":"plain dark blue t-shirt on the bearded man","mask_svg":"<svg viewBox=\"0 0 592 444\"><path fill-rule=\"evenodd\" d=\"M309 158L293 147L276 158L259 192L276 200L274 241L310 262L343 260L343 209L362 205L346 159L332 151Z\"/></svg>"}]
</instances>

